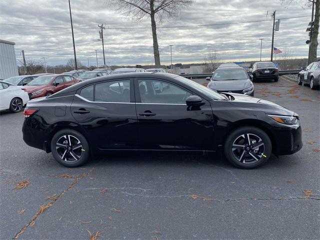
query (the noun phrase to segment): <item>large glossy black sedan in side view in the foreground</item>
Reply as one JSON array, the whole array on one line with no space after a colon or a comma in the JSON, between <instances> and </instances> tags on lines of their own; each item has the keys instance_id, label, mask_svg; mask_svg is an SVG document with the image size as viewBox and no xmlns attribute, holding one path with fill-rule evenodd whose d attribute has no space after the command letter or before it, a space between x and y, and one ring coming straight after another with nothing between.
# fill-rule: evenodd
<instances>
[{"instance_id":1,"label":"large glossy black sedan in side view in the foreground","mask_svg":"<svg viewBox=\"0 0 320 240\"><path fill-rule=\"evenodd\" d=\"M155 85L169 85L155 91ZM114 150L222 150L241 168L302 147L298 115L273 102L210 90L169 73L98 77L24 110L23 140L69 167Z\"/></svg>"}]
</instances>

